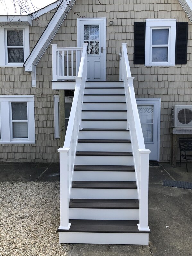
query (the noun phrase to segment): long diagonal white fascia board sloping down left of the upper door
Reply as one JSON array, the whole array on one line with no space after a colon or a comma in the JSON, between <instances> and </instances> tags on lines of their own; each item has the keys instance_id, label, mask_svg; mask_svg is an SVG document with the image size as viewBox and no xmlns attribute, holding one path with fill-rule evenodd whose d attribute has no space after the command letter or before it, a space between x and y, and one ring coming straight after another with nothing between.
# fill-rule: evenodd
<instances>
[{"instance_id":1,"label":"long diagonal white fascia board sloping down left of the upper door","mask_svg":"<svg viewBox=\"0 0 192 256\"><path fill-rule=\"evenodd\" d=\"M52 17L52 20L49 22L47 28L45 29L45 31L43 32L43 34L41 35L39 41L37 42L35 48L33 49L33 51L31 52L31 54L29 55L28 59L26 60L26 62L24 63L24 67L25 67L25 71L30 71L30 67L33 64L34 60L36 59L36 57L38 56L39 52L41 51L41 49L43 48L43 46L45 45L46 41L48 40L49 36L51 35L52 31L54 30L54 28L56 27L59 19L61 18L62 14L64 13L66 7L68 6L69 3L72 2L72 5L74 4L76 0L68 0L68 1L63 1L61 3L61 5L59 6L59 8L57 9L56 13L54 14L54 16ZM69 9L70 10L70 9ZM65 14L66 17L67 13ZM64 19L65 19L64 17ZM63 19L63 20L64 20ZM60 26L58 26L57 30L59 29ZM57 31L52 35L52 39L55 36L55 34L57 33ZM51 42L51 40L50 40ZM49 44L48 44L49 45ZM45 50L43 50L41 56L43 55L43 53L45 52ZM39 58L40 59L40 58Z\"/></svg>"}]
</instances>

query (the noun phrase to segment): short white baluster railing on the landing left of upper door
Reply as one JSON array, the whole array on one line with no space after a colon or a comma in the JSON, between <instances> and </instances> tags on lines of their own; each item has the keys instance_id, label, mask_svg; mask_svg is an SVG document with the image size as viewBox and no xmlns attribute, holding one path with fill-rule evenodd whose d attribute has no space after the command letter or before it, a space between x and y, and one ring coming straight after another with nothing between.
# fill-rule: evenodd
<instances>
[{"instance_id":1,"label":"short white baluster railing on the landing left of upper door","mask_svg":"<svg viewBox=\"0 0 192 256\"><path fill-rule=\"evenodd\" d=\"M75 80L78 77L82 47L57 47L52 44L53 81Z\"/></svg>"}]
</instances>

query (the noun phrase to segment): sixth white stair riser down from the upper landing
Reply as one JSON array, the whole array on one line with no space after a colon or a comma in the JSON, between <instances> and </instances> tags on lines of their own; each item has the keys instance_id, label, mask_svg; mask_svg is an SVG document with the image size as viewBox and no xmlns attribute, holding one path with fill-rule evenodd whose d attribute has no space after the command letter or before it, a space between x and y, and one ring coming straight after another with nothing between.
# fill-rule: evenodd
<instances>
[{"instance_id":1,"label":"sixth white stair riser down from the upper landing","mask_svg":"<svg viewBox=\"0 0 192 256\"><path fill-rule=\"evenodd\" d=\"M81 127L92 129L126 129L127 121L82 121Z\"/></svg>"}]
</instances>

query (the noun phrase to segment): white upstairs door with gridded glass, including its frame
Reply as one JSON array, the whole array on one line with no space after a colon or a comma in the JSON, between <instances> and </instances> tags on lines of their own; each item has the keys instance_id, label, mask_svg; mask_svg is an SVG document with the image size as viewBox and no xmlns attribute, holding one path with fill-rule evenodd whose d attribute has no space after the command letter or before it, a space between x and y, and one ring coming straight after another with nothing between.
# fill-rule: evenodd
<instances>
[{"instance_id":1,"label":"white upstairs door with gridded glass, including its frame","mask_svg":"<svg viewBox=\"0 0 192 256\"><path fill-rule=\"evenodd\" d=\"M78 19L78 47L87 43L87 80L106 80L106 18Z\"/></svg>"}]
</instances>

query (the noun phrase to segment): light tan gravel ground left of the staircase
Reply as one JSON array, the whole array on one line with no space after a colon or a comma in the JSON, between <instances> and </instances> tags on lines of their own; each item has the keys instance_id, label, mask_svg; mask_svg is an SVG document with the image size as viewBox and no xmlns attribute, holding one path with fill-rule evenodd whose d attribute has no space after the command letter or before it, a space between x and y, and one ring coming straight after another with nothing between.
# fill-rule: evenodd
<instances>
[{"instance_id":1,"label":"light tan gravel ground left of the staircase","mask_svg":"<svg viewBox=\"0 0 192 256\"><path fill-rule=\"evenodd\" d=\"M59 182L0 183L0 256L65 256L59 244Z\"/></svg>"}]
</instances>

